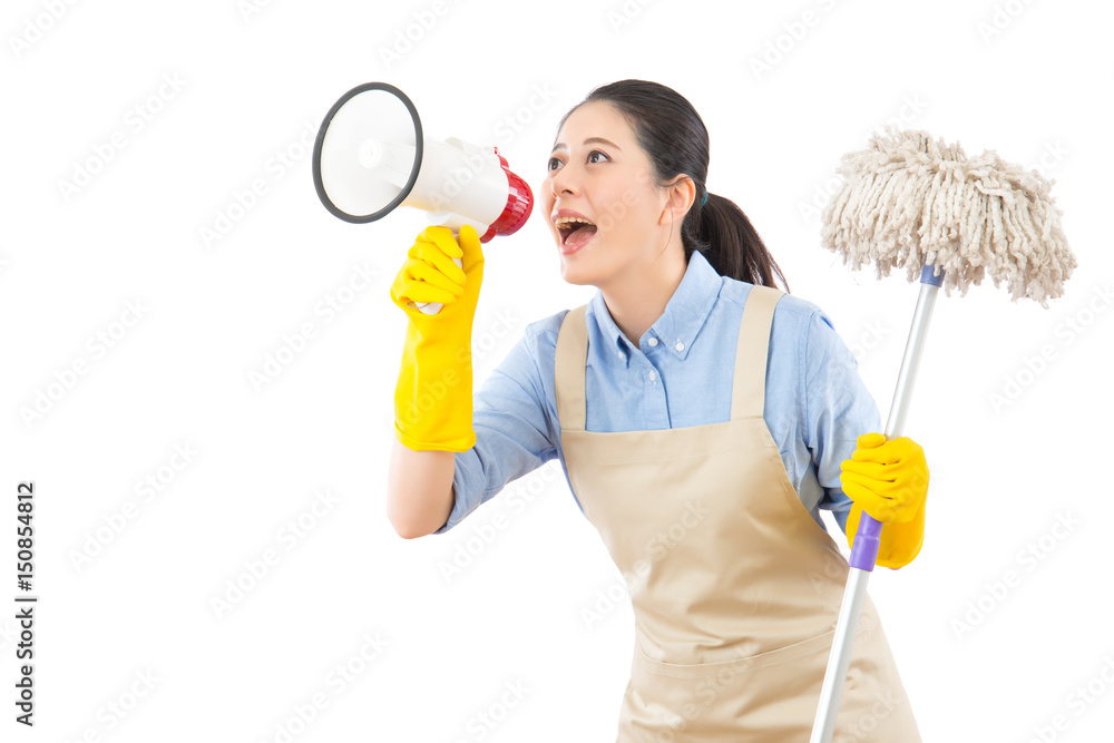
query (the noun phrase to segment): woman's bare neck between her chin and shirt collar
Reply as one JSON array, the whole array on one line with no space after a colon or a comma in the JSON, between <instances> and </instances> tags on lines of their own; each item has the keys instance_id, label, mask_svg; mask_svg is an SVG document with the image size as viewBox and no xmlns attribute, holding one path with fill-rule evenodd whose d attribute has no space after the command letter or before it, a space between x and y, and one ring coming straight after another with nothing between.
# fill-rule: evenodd
<instances>
[{"instance_id":1,"label":"woman's bare neck between her chin and shirt collar","mask_svg":"<svg viewBox=\"0 0 1114 743\"><path fill-rule=\"evenodd\" d=\"M684 248L671 245L652 263L631 266L607 284L597 284L607 311L632 345L638 345L665 312L687 267Z\"/></svg>"}]
</instances>

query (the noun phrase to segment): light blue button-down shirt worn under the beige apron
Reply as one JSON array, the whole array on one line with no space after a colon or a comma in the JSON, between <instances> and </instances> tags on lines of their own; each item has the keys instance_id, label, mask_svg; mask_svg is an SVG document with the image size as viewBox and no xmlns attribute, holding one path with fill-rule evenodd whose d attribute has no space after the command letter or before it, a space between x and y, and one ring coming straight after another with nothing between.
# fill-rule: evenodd
<instances>
[{"instance_id":1,"label":"light blue button-down shirt worn under the beige apron","mask_svg":"<svg viewBox=\"0 0 1114 743\"><path fill-rule=\"evenodd\" d=\"M633 431L730 420L731 360L752 286L719 275L701 253L693 253L662 316L637 344L615 324L597 292L585 312L590 368L585 429ZM527 325L476 394L476 444L456 454L456 502L449 520L433 534L460 524L507 483L554 457L573 490L554 388L557 332L567 313ZM858 362L831 321L792 294L778 302L773 314L763 418L805 509L821 528L819 509L829 509L846 529L851 500L839 481L840 462L851 457L860 434L882 430L881 419Z\"/></svg>"}]
</instances>

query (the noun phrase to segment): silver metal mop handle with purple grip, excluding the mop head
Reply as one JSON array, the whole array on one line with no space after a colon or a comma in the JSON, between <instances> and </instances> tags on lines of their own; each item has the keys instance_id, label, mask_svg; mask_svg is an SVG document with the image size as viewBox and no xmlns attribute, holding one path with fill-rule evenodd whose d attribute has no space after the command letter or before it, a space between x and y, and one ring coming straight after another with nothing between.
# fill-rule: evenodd
<instances>
[{"instance_id":1,"label":"silver metal mop handle with purple grip, excluding the mop head","mask_svg":"<svg viewBox=\"0 0 1114 743\"><path fill-rule=\"evenodd\" d=\"M905 427L917 368L925 350L928 323L932 317L932 305L936 303L937 292L944 284L944 271L934 276L935 268L935 264L929 264L920 272L920 294L917 297L917 309L913 311L905 355L901 358L901 370L898 372L898 383L893 390L890 417L886 422L887 441L901 436L901 429ZM867 583L878 559L881 534L882 522L863 511L859 519L859 529L854 532L854 546L851 548L849 560L852 569L848 574L843 603L836 623L836 635L832 638L831 654L828 656L828 671L820 690L820 704L812 724L810 743L831 743L836 733L836 717L843 695L843 682L851 664L851 649L854 647L854 628L859 625L859 614L867 597Z\"/></svg>"}]
</instances>

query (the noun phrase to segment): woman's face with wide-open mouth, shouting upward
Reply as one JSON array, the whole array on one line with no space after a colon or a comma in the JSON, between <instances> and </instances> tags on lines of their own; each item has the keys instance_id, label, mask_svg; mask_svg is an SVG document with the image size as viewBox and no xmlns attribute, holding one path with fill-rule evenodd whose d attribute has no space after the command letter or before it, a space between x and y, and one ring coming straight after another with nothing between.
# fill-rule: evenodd
<instances>
[{"instance_id":1,"label":"woman's face with wide-open mouth, shouting upward","mask_svg":"<svg viewBox=\"0 0 1114 743\"><path fill-rule=\"evenodd\" d=\"M565 120L541 188L543 214L565 281L606 284L652 263L671 229L680 227L665 214L667 202L666 190L654 186L649 158L610 104L585 104ZM578 223L558 222L567 212L590 222L595 231L585 227L573 234Z\"/></svg>"}]
</instances>

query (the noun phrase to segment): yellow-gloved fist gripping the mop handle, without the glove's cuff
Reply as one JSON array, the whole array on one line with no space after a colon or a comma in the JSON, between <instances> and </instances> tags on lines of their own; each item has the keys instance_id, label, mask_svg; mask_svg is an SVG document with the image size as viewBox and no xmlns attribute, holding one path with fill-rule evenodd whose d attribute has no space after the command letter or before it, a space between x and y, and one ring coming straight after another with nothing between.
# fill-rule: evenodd
<instances>
[{"instance_id":1,"label":"yellow-gloved fist gripping the mop handle, without the glove's cuff","mask_svg":"<svg viewBox=\"0 0 1114 743\"><path fill-rule=\"evenodd\" d=\"M863 433L840 469L843 492L882 524L911 521L928 495L925 450L906 436Z\"/></svg>"}]
</instances>

